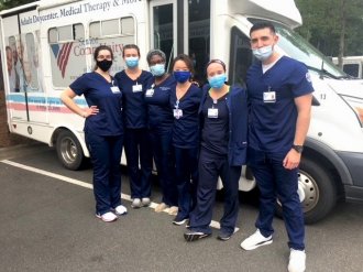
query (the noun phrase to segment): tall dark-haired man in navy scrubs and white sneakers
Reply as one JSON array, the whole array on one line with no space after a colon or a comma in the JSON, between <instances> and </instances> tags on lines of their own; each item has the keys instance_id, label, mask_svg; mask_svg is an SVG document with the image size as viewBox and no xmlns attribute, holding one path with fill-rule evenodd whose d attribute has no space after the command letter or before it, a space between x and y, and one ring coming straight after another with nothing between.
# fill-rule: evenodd
<instances>
[{"instance_id":1,"label":"tall dark-haired man in navy scrubs and white sneakers","mask_svg":"<svg viewBox=\"0 0 363 272\"><path fill-rule=\"evenodd\" d=\"M250 31L260 62L246 76L250 102L249 165L261 192L257 230L241 247L253 250L273 241L276 197L283 206L290 248L288 271L305 271L304 214L297 194L298 166L310 123L311 86L306 66L274 50L278 41L267 22Z\"/></svg>"}]
</instances>

